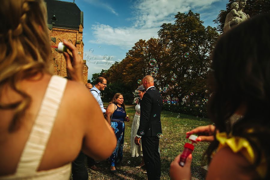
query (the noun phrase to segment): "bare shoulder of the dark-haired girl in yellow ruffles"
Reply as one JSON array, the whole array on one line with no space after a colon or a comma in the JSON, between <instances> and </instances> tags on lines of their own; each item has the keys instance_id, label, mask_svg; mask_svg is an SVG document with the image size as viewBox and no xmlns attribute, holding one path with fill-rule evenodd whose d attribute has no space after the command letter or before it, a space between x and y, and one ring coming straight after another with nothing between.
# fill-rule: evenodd
<instances>
[{"instance_id":1,"label":"bare shoulder of the dark-haired girl in yellow ruffles","mask_svg":"<svg viewBox=\"0 0 270 180\"><path fill-rule=\"evenodd\" d=\"M206 179L253 179L258 177L255 169L240 153L234 153L229 147L220 149L213 157Z\"/></svg>"}]
</instances>

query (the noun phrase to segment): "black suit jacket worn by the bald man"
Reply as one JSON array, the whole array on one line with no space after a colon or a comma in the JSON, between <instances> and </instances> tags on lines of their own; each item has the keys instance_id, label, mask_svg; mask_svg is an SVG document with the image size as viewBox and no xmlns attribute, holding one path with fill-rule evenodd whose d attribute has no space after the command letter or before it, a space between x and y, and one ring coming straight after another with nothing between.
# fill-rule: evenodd
<instances>
[{"instance_id":1,"label":"black suit jacket worn by the bald man","mask_svg":"<svg viewBox=\"0 0 270 180\"><path fill-rule=\"evenodd\" d=\"M160 113L162 98L155 87L149 88L141 100L140 126L137 131L139 136L156 136L162 133Z\"/></svg>"}]
</instances>

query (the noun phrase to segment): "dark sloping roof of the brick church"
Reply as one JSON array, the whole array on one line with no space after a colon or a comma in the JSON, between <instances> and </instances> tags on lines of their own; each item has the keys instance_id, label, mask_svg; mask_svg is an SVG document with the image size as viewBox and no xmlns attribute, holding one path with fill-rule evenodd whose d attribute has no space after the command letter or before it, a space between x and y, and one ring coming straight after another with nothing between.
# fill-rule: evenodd
<instances>
[{"instance_id":1,"label":"dark sloping roof of the brick church","mask_svg":"<svg viewBox=\"0 0 270 180\"><path fill-rule=\"evenodd\" d=\"M47 23L50 27L79 29L83 26L83 12L73 2L44 0L47 6Z\"/></svg>"}]
</instances>

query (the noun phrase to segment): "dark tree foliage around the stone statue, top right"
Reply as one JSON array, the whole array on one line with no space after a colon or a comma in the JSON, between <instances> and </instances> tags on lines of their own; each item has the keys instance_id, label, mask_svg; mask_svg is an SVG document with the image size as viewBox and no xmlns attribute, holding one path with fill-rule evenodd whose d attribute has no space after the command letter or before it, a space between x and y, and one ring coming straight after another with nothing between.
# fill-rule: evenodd
<instances>
[{"instance_id":1,"label":"dark tree foliage around the stone statue, top right","mask_svg":"<svg viewBox=\"0 0 270 180\"><path fill-rule=\"evenodd\" d=\"M231 4L235 2L235 0L229 0L228 4L226 4L226 10L220 10L217 19L213 22L217 24L217 30L222 33L223 26L225 23L225 19L227 14L230 12ZM248 14L251 18L256 14L267 13L270 12L270 1L269 0L247 0L247 5L244 8L244 13Z\"/></svg>"}]
</instances>

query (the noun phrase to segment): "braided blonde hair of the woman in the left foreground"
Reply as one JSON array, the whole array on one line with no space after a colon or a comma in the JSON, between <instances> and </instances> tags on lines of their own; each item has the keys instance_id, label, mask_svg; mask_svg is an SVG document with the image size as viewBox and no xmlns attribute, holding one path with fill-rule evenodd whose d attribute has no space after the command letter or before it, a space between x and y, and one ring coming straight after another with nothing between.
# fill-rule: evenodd
<instances>
[{"instance_id":1,"label":"braided blonde hair of the woman in the left foreground","mask_svg":"<svg viewBox=\"0 0 270 180\"><path fill-rule=\"evenodd\" d=\"M23 100L5 104L0 110L13 109L9 131L16 130L31 97L18 85L37 73L53 74L47 13L43 0L0 0L0 96L4 86L11 87Z\"/></svg>"}]
</instances>

